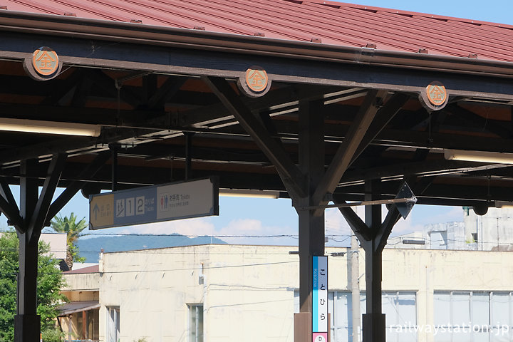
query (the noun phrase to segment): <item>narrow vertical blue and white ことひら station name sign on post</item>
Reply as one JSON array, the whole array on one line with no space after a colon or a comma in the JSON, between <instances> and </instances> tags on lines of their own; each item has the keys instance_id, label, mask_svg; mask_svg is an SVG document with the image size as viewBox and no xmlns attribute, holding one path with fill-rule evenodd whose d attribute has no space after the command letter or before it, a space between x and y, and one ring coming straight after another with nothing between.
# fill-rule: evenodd
<instances>
[{"instance_id":1,"label":"narrow vertical blue and white \u3053\u3068\u3072\u3089 station name sign on post","mask_svg":"<svg viewBox=\"0 0 513 342\"><path fill-rule=\"evenodd\" d=\"M312 341L328 341L328 257L312 257Z\"/></svg>"}]
</instances>

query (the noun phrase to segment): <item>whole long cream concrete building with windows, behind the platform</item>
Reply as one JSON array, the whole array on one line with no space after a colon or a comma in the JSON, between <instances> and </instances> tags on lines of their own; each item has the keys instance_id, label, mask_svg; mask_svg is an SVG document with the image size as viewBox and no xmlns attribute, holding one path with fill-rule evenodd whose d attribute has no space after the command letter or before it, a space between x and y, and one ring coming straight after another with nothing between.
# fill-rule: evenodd
<instances>
[{"instance_id":1,"label":"whole long cream concrete building with windows, behind the platform","mask_svg":"<svg viewBox=\"0 0 513 342\"><path fill-rule=\"evenodd\" d=\"M98 272L66 274L63 292L75 302L68 305L88 301L83 310L93 308L71 313L72 321L77 316L88 322L81 332L98 327L83 338L292 342L299 307L299 256L289 254L294 250L203 245L105 253ZM338 256L328 258L331 341L351 341L351 253L326 249L332 253ZM387 341L512 341L512 264L509 252L385 249ZM362 314L364 301L362 291ZM61 319L64 331L66 322Z\"/></svg>"}]
</instances>

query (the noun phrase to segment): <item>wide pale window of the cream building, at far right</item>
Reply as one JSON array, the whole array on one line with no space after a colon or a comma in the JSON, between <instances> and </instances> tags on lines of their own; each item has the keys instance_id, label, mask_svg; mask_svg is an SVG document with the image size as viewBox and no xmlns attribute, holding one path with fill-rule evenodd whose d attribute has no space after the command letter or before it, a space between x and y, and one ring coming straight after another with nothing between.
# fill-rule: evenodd
<instances>
[{"instance_id":1,"label":"wide pale window of the cream building, at far right","mask_svg":"<svg viewBox=\"0 0 513 342\"><path fill-rule=\"evenodd\" d=\"M435 291L435 342L512 341L513 292Z\"/></svg>"}]
</instances>

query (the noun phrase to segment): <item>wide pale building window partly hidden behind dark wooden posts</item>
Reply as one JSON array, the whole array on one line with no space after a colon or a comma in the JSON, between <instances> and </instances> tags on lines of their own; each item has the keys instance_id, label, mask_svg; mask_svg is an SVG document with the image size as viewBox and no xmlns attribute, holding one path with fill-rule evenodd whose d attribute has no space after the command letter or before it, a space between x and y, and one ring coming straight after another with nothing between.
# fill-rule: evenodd
<instances>
[{"instance_id":1,"label":"wide pale building window partly hidden behind dark wooden posts","mask_svg":"<svg viewBox=\"0 0 513 342\"><path fill-rule=\"evenodd\" d=\"M416 293L413 291L384 291L381 294L383 314L385 314L386 341L417 341ZM366 296L360 295L360 314L366 313ZM299 291L294 291L294 311L299 312ZM331 341L351 342L353 333L362 341L362 331L353 332L353 298L348 291L330 291L328 293L328 313L331 314ZM360 322L361 324L361 322Z\"/></svg>"}]
</instances>

